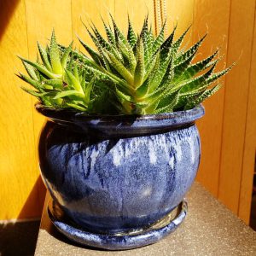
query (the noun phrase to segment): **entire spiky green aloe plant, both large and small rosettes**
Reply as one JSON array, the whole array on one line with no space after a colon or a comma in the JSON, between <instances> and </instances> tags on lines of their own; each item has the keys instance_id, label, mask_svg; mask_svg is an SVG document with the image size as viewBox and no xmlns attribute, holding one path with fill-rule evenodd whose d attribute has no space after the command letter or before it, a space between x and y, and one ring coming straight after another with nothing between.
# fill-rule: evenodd
<instances>
[{"instance_id":1,"label":"entire spiky green aloe plant, both large and small rosettes","mask_svg":"<svg viewBox=\"0 0 256 256\"><path fill-rule=\"evenodd\" d=\"M111 20L112 26L103 21L106 37L93 24L85 26L96 50L79 41L90 57L72 49L72 44L58 46L54 32L49 47L38 44L42 63L21 59L29 77L20 74L20 78L36 89L24 90L54 108L87 113L170 113L195 108L212 96L221 86L218 79L233 66L214 72L218 50L194 63L206 36L186 49L183 39L189 28L174 41L177 26L165 38L165 23L154 36L147 16L137 35L128 17L125 36L112 16Z\"/></svg>"}]
</instances>

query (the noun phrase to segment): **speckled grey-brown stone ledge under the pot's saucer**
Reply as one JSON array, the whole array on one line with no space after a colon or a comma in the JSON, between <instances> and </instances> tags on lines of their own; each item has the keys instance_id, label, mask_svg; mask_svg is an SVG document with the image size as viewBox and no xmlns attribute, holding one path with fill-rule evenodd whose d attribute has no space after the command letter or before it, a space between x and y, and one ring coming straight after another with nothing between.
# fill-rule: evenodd
<instances>
[{"instance_id":1,"label":"speckled grey-brown stone ledge under the pot's saucer","mask_svg":"<svg viewBox=\"0 0 256 256\"><path fill-rule=\"evenodd\" d=\"M128 251L102 251L81 247L55 230L46 205L35 255L256 255L256 232L214 199L201 184L194 183L187 195L188 216L174 233L147 247Z\"/></svg>"}]
</instances>

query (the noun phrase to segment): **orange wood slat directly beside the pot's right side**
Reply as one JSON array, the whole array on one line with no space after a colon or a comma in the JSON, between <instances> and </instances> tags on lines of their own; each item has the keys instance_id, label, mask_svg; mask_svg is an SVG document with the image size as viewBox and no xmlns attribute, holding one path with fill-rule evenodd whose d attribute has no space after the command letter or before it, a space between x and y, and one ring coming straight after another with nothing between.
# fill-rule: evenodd
<instances>
[{"instance_id":1,"label":"orange wood slat directly beside the pot's right side","mask_svg":"<svg viewBox=\"0 0 256 256\"><path fill-rule=\"evenodd\" d=\"M206 32L208 36L201 46L200 57L210 55L221 47L221 55L226 54L229 33L230 1L195 0L194 41ZM226 57L219 64L224 67ZM230 76L232 73L230 73ZM225 79L222 79L223 84ZM218 170L222 140L222 122L224 114L224 88L204 103L206 115L199 120L201 133L201 166L197 180L212 193L218 195Z\"/></svg>"}]
</instances>

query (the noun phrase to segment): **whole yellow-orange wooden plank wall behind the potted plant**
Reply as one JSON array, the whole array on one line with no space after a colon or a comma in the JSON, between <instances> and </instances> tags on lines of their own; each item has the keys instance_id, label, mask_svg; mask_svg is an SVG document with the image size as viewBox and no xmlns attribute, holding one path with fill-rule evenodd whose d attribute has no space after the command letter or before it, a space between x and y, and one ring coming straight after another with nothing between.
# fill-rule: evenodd
<instances>
[{"instance_id":1,"label":"whole yellow-orange wooden plank wall behind the potted plant","mask_svg":"<svg viewBox=\"0 0 256 256\"><path fill-rule=\"evenodd\" d=\"M197 179L212 195L248 222L255 154L255 0L166 0L168 31L178 21L177 35L193 24L191 43L208 32L200 57L221 47L224 63L238 61L223 79L224 87L205 103L198 122L202 158ZM44 201L38 177L37 142L44 118L33 109L14 73L22 70L16 55L36 57L36 41L45 44L55 27L68 44L76 35L89 40L80 19L108 11L120 26L127 12L138 29L148 12L154 24L153 0L9 0L0 1L0 219L36 218Z\"/></svg>"}]
</instances>

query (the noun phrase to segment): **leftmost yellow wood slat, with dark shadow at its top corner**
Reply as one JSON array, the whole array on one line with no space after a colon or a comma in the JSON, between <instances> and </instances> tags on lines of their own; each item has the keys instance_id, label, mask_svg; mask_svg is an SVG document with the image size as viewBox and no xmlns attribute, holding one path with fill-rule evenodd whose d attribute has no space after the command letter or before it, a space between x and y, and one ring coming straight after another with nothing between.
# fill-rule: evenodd
<instances>
[{"instance_id":1,"label":"leftmost yellow wood slat, with dark shadow at its top corner","mask_svg":"<svg viewBox=\"0 0 256 256\"><path fill-rule=\"evenodd\" d=\"M30 192L38 172L34 159L32 98L19 88L15 77L22 69L16 55L27 57L24 1L0 2L0 219L32 218L38 194ZM21 209L26 202L26 209Z\"/></svg>"}]
</instances>

